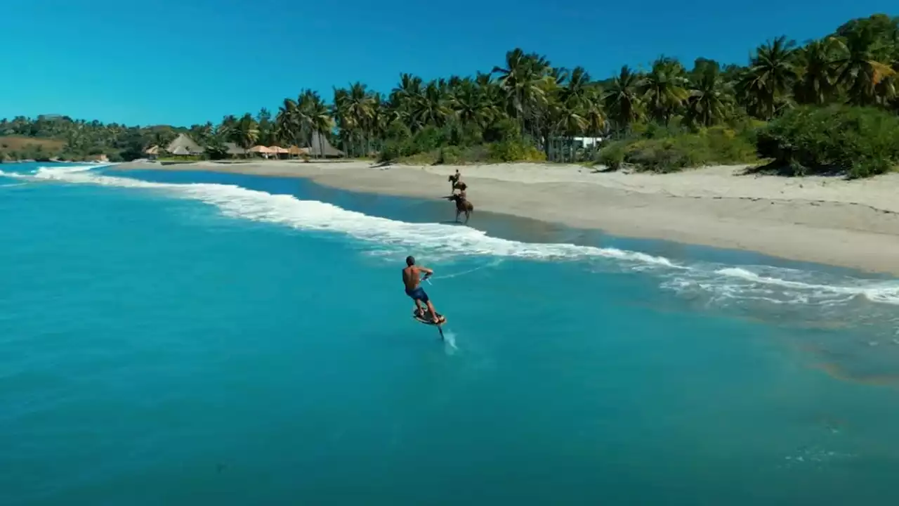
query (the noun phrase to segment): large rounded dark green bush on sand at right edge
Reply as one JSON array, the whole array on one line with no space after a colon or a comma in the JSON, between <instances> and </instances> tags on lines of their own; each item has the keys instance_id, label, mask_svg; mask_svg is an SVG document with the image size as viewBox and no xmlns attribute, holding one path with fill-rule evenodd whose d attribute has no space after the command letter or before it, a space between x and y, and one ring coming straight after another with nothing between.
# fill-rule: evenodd
<instances>
[{"instance_id":1,"label":"large rounded dark green bush on sand at right edge","mask_svg":"<svg viewBox=\"0 0 899 506\"><path fill-rule=\"evenodd\" d=\"M879 109L803 106L761 129L756 149L789 174L883 174L899 165L899 117Z\"/></svg>"}]
</instances>

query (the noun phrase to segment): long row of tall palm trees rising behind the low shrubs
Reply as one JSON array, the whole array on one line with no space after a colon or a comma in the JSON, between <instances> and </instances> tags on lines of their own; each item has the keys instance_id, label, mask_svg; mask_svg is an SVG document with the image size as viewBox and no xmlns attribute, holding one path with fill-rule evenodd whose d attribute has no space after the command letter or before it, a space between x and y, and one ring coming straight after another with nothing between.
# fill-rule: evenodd
<instances>
[{"instance_id":1,"label":"long row of tall palm trees rising behind the low shrubs","mask_svg":"<svg viewBox=\"0 0 899 506\"><path fill-rule=\"evenodd\" d=\"M307 146L313 131L348 156L393 158L435 149L514 145L550 160L583 158L577 137L623 139L646 125L701 131L770 122L803 105L848 104L899 113L899 17L851 20L799 45L766 41L746 66L696 59L691 68L662 56L645 71L623 66L594 80L582 67L561 68L515 49L502 65L474 76L425 81L401 75L388 93L364 83L336 87L330 103L316 91L286 98L277 111L229 115L218 124L127 127L67 117L0 121L0 135L67 140L67 152L138 158L186 131L212 151L226 142ZM743 126L742 126L743 125Z\"/></svg>"}]
</instances>

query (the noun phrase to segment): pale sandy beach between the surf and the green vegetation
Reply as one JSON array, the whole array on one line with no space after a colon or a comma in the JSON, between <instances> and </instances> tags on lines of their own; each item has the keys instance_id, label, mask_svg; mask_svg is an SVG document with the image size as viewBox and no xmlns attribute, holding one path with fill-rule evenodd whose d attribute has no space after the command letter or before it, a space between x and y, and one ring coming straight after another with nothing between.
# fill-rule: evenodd
<instances>
[{"instance_id":1,"label":"pale sandy beach between the surf and the green vegetation","mask_svg":"<svg viewBox=\"0 0 899 506\"><path fill-rule=\"evenodd\" d=\"M836 177L747 175L746 167L679 174L599 173L580 166L372 167L367 162L197 162L120 169L213 170L307 177L356 192L436 198L449 194L458 168L477 211L512 214L646 239L758 251L868 272L899 275L899 175ZM447 216L454 215L447 203Z\"/></svg>"}]
</instances>

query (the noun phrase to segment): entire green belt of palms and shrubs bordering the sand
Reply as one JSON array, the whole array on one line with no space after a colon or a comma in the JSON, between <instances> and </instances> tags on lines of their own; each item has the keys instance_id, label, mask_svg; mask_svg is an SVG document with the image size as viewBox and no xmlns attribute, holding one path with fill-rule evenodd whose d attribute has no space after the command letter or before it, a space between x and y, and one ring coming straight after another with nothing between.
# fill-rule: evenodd
<instances>
[{"instance_id":1,"label":"entire green belt of palms and shrubs bordering the sand","mask_svg":"<svg viewBox=\"0 0 899 506\"><path fill-rule=\"evenodd\" d=\"M554 67L516 49L502 66L473 77L426 82L403 74L388 95L354 83L335 88L331 104L306 90L275 113L227 116L218 125L15 118L0 122L0 135L66 140L58 155L67 158L136 158L179 131L213 157L223 156L226 142L307 146L313 131L325 131L348 156L382 160L546 159L671 171L762 157L792 174L868 176L899 163L888 148L897 135L897 71L899 17L877 14L802 46L786 37L768 41L746 67L700 58L688 69L660 57L645 71L624 66L597 81L583 68ZM576 141L583 137L604 141L584 148Z\"/></svg>"}]
</instances>

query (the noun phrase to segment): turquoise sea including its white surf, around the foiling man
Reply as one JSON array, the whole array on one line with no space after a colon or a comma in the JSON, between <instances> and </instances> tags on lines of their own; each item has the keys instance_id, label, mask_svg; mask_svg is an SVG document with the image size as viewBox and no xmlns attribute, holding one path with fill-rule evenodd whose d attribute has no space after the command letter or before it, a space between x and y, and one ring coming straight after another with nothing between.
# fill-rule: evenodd
<instances>
[{"instance_id":1,"label":"turquoise sea including its white surf, around the foiling man","mask_svg":"<svg viewBox=\"0 0 899 506\"><path fill-rule=\"evenodd\" d=\"M895 279L286 178L0 169L4 506L899 500Z\"/></svg>"}]
</instances>

